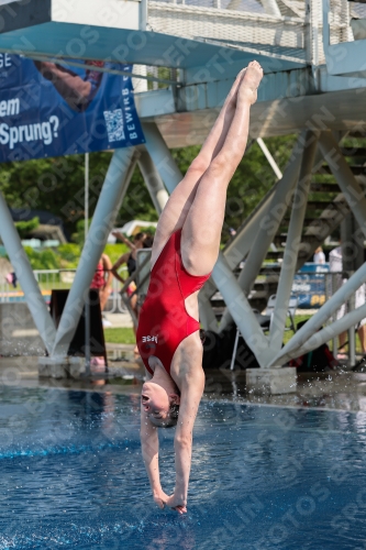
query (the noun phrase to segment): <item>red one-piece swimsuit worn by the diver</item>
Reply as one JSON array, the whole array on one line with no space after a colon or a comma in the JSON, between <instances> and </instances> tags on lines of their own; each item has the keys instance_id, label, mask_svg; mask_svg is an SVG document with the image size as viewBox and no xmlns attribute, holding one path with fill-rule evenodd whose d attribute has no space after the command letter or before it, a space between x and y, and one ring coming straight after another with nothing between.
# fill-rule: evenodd
<instances>
[{"instance_id":1,"label":"red one-piece swimsuit worn by the diver","mask_svg":"<svg viewBox=\"0 0 366 550\"><path fill-rule=\"evenodd\" d=\"M187 314L185 299L199 290L209 275L190 275L181 261L181 230L169 238L151 274L146 299L140 314L137 348L147 371L151 355L159 359L170 373L176 349L185 338L199 330L199 322Z\"/></svg>"}]
</instances>

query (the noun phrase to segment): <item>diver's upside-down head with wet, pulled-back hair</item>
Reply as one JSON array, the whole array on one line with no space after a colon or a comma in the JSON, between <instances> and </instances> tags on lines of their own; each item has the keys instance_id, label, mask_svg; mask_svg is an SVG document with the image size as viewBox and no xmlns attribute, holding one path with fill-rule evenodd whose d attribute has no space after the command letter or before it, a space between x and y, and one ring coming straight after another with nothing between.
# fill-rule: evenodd
<instances>
[{"instance_id":1,"label":"diver's upside-down head with wet, pulled-back hair","mask_svg":"<svg viewBox=\"0 0 366 550\"><path fill-rule=\"evenodd\" d=\"M141 393L141 403L147 417L158 428L170 428L178 421L180 395L168 393L155 382L145 382Z\"/></svg>"}]
</instances>

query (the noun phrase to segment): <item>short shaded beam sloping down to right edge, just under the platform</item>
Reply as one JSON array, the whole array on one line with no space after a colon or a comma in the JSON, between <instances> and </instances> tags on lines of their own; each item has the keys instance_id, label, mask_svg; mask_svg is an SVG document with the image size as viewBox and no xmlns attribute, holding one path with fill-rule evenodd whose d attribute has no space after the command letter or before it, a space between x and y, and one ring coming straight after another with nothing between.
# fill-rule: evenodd
<instances>
[{"instance_id":1,"label":"short shaded beam sloping down to right edge, just under the platform","mask_svg":"<svg viewBox=\"0 0 366 550\"><path fill-rule=\"evenodd\" d=\"M331 132L322 132L319 145L351 211L366 235L366 198Z\"/></svg>"}]
</instances>

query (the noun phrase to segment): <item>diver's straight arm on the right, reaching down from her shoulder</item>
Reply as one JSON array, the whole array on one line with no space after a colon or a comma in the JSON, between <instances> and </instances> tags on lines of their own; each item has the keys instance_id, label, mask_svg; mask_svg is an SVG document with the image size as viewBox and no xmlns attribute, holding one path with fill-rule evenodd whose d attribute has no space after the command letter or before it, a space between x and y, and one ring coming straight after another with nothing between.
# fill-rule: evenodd
<instances>
[{"instance_id":1,"label":"diver's straight arm on the right, reaching down from her shoulder","mask_svg":"<svg viewBox=\"0 0 366 550\"><path fill-rule=\"evenodd\" d=\"M174 448L176 454L176 486L167 501L169 507L186 512L188 482L192 453L193 425L204 389L204 373L201 369L190 375L181 385L179 417ZM179 512L179 509L178 509Z\"/></svg>"}]
</instances>

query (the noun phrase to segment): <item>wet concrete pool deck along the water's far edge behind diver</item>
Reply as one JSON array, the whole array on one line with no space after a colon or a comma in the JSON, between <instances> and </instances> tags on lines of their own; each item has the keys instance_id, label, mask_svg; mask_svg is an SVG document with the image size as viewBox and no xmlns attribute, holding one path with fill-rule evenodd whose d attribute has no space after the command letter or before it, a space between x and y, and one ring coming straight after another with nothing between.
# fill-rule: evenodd
<instances>
[{"instance_id":1,"label":"wet concrete pool deck along the water's far edge behind diver","mask_svg":"<svg viewBox=\"0 0 366 550\"><path fill-rule=\"evenodd\" d=\"M38 358L0 358L0 385L12 387L57 387L115 394L140 394L144 370L133 354L133 345L109 344L109 371L95 371L91 380L55 380L38 377ZM245 387L245 371L212 370L206 372L204 398L282 407L366 411L366 373L334 371L300 373L297 391L284 395L255 395Z\"/></svg>"}]
</instances>

